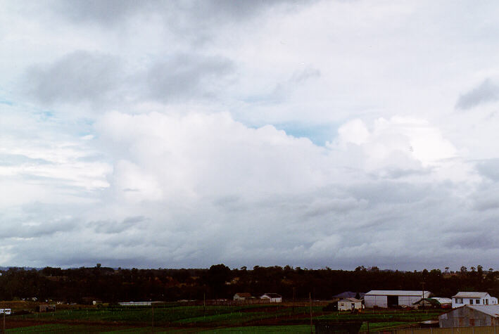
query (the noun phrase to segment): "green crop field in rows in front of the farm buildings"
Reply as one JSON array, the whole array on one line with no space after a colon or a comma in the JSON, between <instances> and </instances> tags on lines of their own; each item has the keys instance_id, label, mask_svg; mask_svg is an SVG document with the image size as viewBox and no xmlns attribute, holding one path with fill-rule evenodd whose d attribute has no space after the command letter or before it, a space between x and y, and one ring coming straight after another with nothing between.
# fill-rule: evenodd
<instances>
[{"instance_id":1,"label":"green crop field in rows in front of the farm buildings","mask_svg":"<svg viewBox=\"0 0 499 334\"><path fill-rule=\"evenodd\" d=\"M441 311L366 310L358 314L312 307L313 322L362 323L387 330L436 319ZM8 316L8 333L310 333L310 308L283 304L241 306L102 307ZM154 327L153 327L154 326Z\"/></svg>"}]
</instances>

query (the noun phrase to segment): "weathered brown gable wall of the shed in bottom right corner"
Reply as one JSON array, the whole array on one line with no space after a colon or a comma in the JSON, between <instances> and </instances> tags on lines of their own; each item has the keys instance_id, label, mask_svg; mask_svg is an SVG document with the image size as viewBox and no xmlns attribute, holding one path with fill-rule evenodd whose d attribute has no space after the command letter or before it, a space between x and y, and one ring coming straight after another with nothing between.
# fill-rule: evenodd
<instances>
[{"instance_id":1,"label":"weathered brown gable wall of the shed in bottom right corner","mask_svg":"<svg viewBox=\"0 0 499 334\"><path fill-rule=\"evenodd\" d=\"M438 316L438 323L442 328L493 326L499 325L499 319L469 307L460 307Z\"/></svg>"}]
</instances>

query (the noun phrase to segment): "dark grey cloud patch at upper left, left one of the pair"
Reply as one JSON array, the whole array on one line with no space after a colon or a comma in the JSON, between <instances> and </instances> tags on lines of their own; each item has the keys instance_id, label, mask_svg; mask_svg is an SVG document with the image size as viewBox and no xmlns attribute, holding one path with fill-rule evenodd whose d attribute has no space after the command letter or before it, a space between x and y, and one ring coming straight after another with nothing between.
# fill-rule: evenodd
<instances>
[{"instance_id":1,"label":"dark grey cloud patch at upper left, left one of the pair","mask_svg":"<svg viewBox=\"0 0 499 334\"><path fill-rule=\"evenodd\" d=\"M42 103L99 101L120 82L120 61L109 55L75 51L25 74L25 91Z\"/></svg>"}]
</instances>

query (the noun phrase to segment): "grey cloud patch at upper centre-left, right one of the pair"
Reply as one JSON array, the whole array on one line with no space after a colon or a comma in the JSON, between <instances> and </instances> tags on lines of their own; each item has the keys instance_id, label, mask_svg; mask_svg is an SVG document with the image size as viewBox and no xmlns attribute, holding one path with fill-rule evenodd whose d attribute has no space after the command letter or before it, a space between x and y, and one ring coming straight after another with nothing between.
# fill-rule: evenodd
<instances>
[{"instance_id":1,"label":"grey cloud patch at upper centre-left, right one of the pair","mask_svg":"<svg viewBox=\"0 0 499 334\"><path fill-rule=\"evenodd\" d=\"M148 86L146 94L160 101L206 98L233 70L234 64L227 58L179 54L151 66L143 80Z\"/></svg>"}]
</instances>

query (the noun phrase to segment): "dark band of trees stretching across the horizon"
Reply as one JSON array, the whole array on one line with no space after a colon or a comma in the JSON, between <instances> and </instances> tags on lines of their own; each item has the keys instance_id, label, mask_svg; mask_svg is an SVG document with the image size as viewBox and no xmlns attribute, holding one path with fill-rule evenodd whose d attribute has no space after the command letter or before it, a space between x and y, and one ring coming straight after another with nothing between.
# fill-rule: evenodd
<instances>
[{"instance_id":1,"label":"dark band of trees stretching across the horizon","mask_svg":"<svg viewBox=\"0 0 499 334\"><path fill-rule=\"evenodd\" d=\"M291 300L329 300L343 291L420 290L438 297L457 291L486 291L499 295L499 271L481 266L457 273L431 271L380 271L362 266L355 271L301 269L291 266L255 266L229 269L223 264L210 269L112 269L106 267L1 271L0 300L37 297L63 302L119 302L127 300L203 300L232 299L234 293L279 293Z\"/></svg>"}]
</instances>

